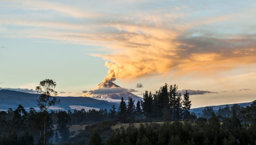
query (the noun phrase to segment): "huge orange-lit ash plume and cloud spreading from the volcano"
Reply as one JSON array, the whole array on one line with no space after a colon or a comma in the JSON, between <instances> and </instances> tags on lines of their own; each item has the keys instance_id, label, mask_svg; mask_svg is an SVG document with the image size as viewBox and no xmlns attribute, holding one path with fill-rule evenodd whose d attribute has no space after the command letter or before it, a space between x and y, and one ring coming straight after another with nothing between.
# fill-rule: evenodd
<instances>
[{"instance_id":1,"label":"huge orange-lit ash plume and cloud spreading from the volcano","mask_svg":"<svg viewBox=\"0 0 256 145\"><path fill-rule=\"evenodd\" d=\"M40 17L33 19L21 15L25 19L10 19L6 16L6 20L0 23L29 26L18 30L6 27L5 37L44 38L103 48L107 53L91 55L106 60L105 66L109 70L105 81L133 79L170 71L176 75L190 72L216 74L256 63L256 35L254 31L245 31L254 30L249 29L254 23L243 23L242 26L240 23L247 22L246 18L253 19L251 14L255 12L254 9L214 15L202 10L191 17L187 11L189 6L161 10L152 7L152 11L141 4L141 9L134 12L124 9L122 14L113 12L108 15L104 9L92 11L91 5L87 5L89 8L82 9L78 5L57 2L9 2L4 5L5 8L24 9L30 13L41 13L43 10L52 16L62 16L63 20L58 18L57 22L53 18L45 21L43 17L40 21ZM116 8L123 6L118 3ZM73 18L77 21L68 21ZM228 22L232 22L236 31L229 33L220 30L226 30ZM214 25L218 31L213 29Z\"/></svg>"}]
</instances>

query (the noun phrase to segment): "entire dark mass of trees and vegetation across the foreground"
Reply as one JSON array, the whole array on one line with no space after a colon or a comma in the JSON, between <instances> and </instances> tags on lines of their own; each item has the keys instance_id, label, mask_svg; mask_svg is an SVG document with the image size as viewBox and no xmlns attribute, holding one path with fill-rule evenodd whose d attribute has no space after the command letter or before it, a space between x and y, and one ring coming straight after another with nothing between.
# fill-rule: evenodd
<instances>
[{"instance_id":1,"label":"entire dark mass of trees and vegetation across the foreground","mask_svg":"<svg viewBox=\"0 0 256 145\"><path fill-rule=\"evenodd\" d=\"M182 95L176 85L165 84L154 94L145 91L138 102L122 98L120 105L109 111L52 111L50 106L61 103L54 97L55 86L46 79L36 87L41 93L40 111L25 111L19 105L16 110L0 112L0 145L256 145L256 103L246 108L227 105L218 112L205 107L202 114L190 113L189 93ZM129 126L111 128L122 123ZM135 126L138 123L140 127ZM72 125L84 124L91 125L75 136L69 131Z\"/></svg>"}]
</instances>

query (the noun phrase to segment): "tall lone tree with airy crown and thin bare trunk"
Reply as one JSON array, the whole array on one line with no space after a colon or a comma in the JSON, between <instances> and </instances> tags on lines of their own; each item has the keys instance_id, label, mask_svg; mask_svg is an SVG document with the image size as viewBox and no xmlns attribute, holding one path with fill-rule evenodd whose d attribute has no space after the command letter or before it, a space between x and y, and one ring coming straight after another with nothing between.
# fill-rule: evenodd
<instances>
[{"instance_id":1,"label":"tall lone tree with airy crown and thin bare trunk","mask_svg":"<svg viewBox=\"0 0 256 145\"><path fill-rule=\"evenodd\" d=\"M36 87L36 91L40 93L40 97L36 100L37 105L40 107L41 112L44 112L44 145L45 145L45 128L46 128L46 114L49 107L60 103L60 100L57 100L57 91L53 89L56 87L56 82L51 79L45 79L39 83L39 86Z\"/></svg>"}]
</instances>

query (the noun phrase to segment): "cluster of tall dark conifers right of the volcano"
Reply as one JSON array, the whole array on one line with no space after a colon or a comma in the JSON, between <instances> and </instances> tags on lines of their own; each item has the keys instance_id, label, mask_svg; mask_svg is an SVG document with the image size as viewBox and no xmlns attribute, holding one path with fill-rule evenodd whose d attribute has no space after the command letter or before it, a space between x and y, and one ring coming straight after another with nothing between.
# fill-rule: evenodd
<instances>
[{"instance_id":1,"label":"cluster of tall dark conifers right of the volcano","mask_svg":"<svg viewBox=\"0 0 256 145\"><path fill-rule=\"evenodd\" d=\"M165 84L154 94L145 91L143 100L138 100L136 105L132 98L129 98L127 103L122 98L118 110L116 111L117 108L113 105L109 116L130 123L135 120L151 122L184 120L190 115L190 107L191 101L187 91L181 94L176 84L170 87Z\"/></svg>"}]
</instances>

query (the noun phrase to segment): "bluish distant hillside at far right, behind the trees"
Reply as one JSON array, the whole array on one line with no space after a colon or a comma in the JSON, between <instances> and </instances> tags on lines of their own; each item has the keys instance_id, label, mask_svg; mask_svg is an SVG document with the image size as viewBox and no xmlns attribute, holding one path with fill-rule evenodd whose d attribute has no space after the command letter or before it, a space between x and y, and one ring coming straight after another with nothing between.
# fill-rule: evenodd
<instances>
[{"instance_id":1,"label":"bluish distant hillside at far right, behind the trees","mask_svg":"<svg viewBox=\"0 0 256 145\"><path fill-rule=\"evenodd\" d=\"M252 101L252 102L247 102L247 103L236 103L238 105L240 105L241 107L246 107L246 106L250 106L253 102L256 102L256 100ZM233 106L234 104L228 104L229 107ZM217 105L217 106L206 106L206 107L212 107L214 112L218 112L219 108L224 108L226 106L225 105ZM195 112L196 114L197 113L200 113L202 114L202 111L204 110L204 107L200 107L200 108L193 108L193 109L190 109L190 112Z\"/></svg>"}]
</instances>

